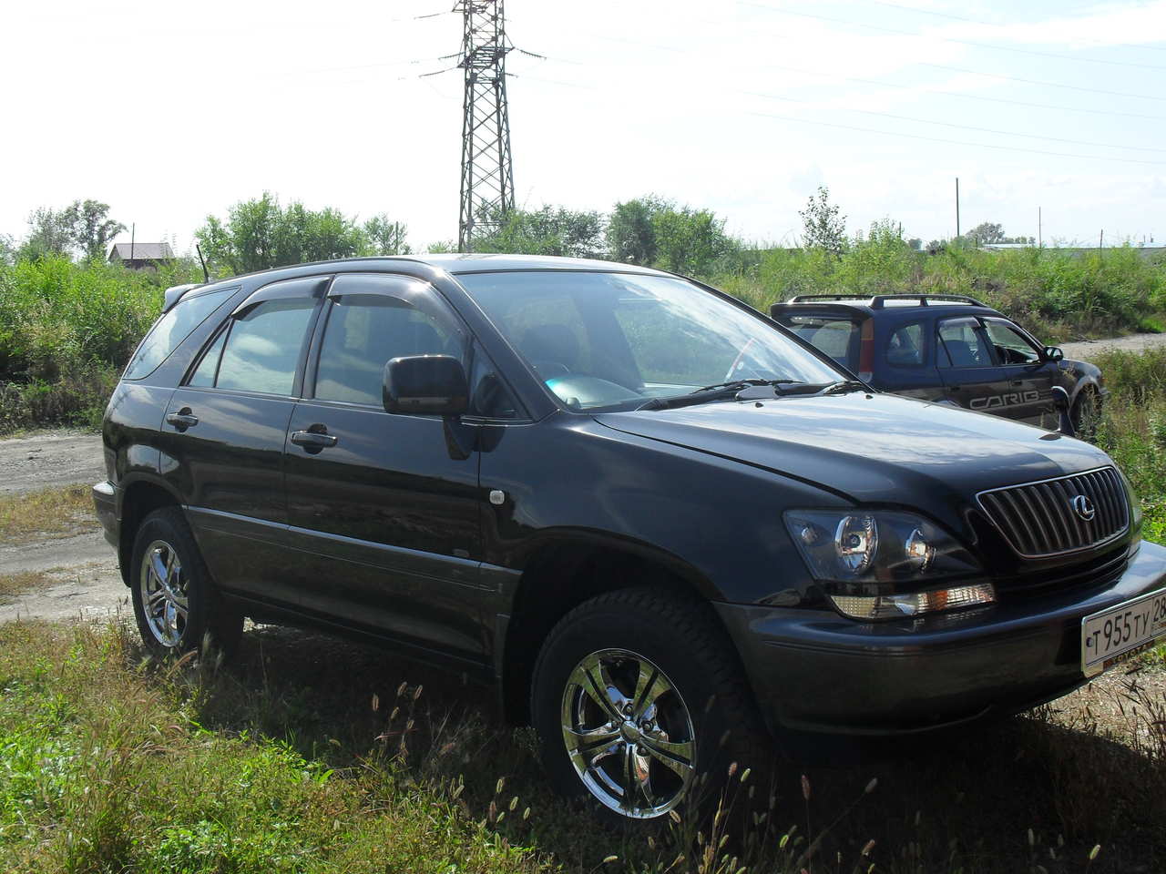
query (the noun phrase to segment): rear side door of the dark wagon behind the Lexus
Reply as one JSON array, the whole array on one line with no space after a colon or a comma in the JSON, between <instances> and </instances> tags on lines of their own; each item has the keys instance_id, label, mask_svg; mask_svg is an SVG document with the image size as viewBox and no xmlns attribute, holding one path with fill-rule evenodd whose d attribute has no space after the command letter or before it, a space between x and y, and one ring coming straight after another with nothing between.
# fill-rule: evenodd
<instances>
[{"instance_id":1,"label":"rear side door of the dark wagon behind the Lexus","mask_svg":"<svg viewBox=\"0 0 1166 874\"><path fill-rule=\"evenodd\" d=\"M957 316L936 324L935 365L947 399L979 413L1005 413L1007 380L992 357L979 319Z\"/></svg>"}]
</instances>

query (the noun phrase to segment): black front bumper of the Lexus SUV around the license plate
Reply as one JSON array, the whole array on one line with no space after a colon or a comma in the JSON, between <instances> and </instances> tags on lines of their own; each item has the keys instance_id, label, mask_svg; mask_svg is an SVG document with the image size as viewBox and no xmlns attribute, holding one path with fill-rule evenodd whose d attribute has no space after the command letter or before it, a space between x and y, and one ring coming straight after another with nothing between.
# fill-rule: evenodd
<instances>
[{"instance_id":1,"label":"black front bumper of the Lexus SUV around the license plate","mask_svg":"<svg viewBox=\"0 0 1166 874\"><path fill-rule=\"evenodd\" d=\"M909 734L1006 714L1086 682L1081 620L1166 587L1143 543L1103 588L961 614L856 622L833 611L717 604L773 729Z\"/></svg>"}]
</instances>

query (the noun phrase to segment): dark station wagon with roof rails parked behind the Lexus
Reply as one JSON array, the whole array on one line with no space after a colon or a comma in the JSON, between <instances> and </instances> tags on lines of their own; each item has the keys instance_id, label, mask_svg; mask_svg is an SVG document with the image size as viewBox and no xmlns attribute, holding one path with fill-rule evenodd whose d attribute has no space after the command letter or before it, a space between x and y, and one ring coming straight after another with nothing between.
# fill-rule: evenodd
<instances>
[{"instance_id":1,"label":"dark station wagon with roof rails parked behind the Lexus","mask_svg":"<svg viewBox=\"0 0 1166 874\"><path fill-rule=\"evenodd\" d=\"M1075 430L1109 396L1097 367L963 295L799 295L770 315L884 392L1058 428L1060 387Z\"/></svg>"}]
</instances>

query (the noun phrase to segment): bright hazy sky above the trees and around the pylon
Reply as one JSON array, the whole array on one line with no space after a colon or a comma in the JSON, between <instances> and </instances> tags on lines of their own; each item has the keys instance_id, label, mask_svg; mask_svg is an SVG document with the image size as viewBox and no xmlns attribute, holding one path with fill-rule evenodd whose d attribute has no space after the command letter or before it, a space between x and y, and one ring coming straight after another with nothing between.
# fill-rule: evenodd
<instances>
[{"instance_id":1,"label":"bright hazy sky above the trees and around the pylon","mask_svg":"<svg viewBox=\"0 0 1166 874\"><path fill-rule=\"evenodd\" d=\"M264 191L415 248L457 238L454 0L0 5L0 233L108 203L194 245ZM520 206L655 193L796 245L819 185L851 233L1166 242L1166 0L507 0ZM435 76L422 73L440 72ZM122 238L128 241L128 233Z\"/></svg>"}]
</instances>

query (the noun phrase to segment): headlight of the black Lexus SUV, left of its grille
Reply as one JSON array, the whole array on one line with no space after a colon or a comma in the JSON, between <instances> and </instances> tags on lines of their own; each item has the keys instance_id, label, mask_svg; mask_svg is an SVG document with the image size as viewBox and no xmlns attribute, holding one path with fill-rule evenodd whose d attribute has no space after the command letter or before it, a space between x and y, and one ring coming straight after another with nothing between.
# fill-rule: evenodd
<instances>
[{"instance_id":1,"label":"headlight of the black Lexus SUV, left of its grille","mask_svg":"<svg viewBox=\"0 0 1166 874\"><path fill-rule=\"evenodd\" d=\"M951 535L913 513L789 510L786 527L810 575L856 619L888 619L996 600L990 584L937 587L981 575Z\"/></svg>"}]
</instances>

